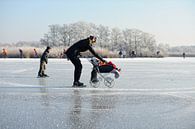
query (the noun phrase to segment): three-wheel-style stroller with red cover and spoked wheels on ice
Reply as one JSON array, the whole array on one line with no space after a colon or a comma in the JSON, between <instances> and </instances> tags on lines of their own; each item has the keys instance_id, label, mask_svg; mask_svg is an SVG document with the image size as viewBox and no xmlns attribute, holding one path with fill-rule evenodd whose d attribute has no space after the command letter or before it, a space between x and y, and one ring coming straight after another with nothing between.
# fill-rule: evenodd
<instances>
[{"instance_id":1,"label":"three-wheel-style stroller with red cover and spoked wheels on ice","mask_svg":"<svg viewBox=\"0 0 195 129\"><path fill-rule=\"evenodd\" d=\"M90 80L90 85L92 87L99 87L100 82L103 81L104 85L112 88L115 84L115 79L119 78L119 73L121 69L118 69L115 64L113 64L111 61L109 61L106 64L102 64L101 61L96 59L95 57L92 57L91 59L88 59L89 62L93 65L93 72L97 73L96 79L97 81L93 81L93 79ZM114 74L114 77L111 76Z\"/></svg>"}]
</instances>

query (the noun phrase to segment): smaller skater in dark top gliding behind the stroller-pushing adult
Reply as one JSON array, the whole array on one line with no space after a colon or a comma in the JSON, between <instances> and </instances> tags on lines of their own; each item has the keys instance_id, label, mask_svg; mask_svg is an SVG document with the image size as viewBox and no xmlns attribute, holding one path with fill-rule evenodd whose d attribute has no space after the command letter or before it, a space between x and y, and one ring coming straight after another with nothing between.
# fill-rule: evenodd
<instances>
[{"instance_id":1,"label":"smaller skater in dark top gliding behind the stroller-pushing adult","mask_svg":"<svg viewBox=\"0 0 195 129\"><path fill-rule=\"evenodd\" d=\"M48 55L50 49L51 48L48 46L41 56L38 77L49 77L47 74L45 74L45 70L46 70L46 64L48 63Z\"/></svg>"}]
</instances>

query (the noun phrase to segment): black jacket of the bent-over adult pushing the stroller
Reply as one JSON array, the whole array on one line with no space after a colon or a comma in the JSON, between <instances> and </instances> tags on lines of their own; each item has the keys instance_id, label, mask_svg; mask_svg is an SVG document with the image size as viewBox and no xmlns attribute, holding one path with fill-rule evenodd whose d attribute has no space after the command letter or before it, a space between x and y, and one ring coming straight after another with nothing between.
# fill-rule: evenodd
<instances>
[{"instance_id":1,"label":"black jacket of the bent-over adult pushing the stroller","mask_svg":"<svg viewBox=\"0 0 195 129\"><path fill-rule=\"evenodd\" d=\"M80 40L80 41L76 42L75 44L73 44L66 51L66 55L68 58L73 58L73 57L77 57L78 55L80 55L80 52L85 52L87 50L89 50L96 58L98 58L104 62L104 60L98 54L96 54L96 52L94 51L94 49L90 45L89 38Z\"/></svg>"}]
</instances>

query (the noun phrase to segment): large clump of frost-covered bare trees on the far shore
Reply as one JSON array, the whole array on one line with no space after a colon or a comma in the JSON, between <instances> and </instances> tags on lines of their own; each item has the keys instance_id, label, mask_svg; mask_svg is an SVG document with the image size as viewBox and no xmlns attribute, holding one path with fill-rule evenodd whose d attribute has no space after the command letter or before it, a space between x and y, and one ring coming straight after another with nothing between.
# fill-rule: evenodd
<instances>
[{"instance_id":1,"label":"large clump of frost-covered bare trees on the far shore","mask_svg":"<svg viewBox=\"0 0 195 129\"><path fill-rule=\"evenodd\" d=\"M126 56L132 52L136 56L166 56L169 46L157 45L155 36L138 29L109 28L93 23L76 22L64 25L49 25L49 31L44 34L40 42L45 46L66 46L89 35L97 37L97 45L115 53L123 51Z\"/></svg>"}]
</instances>

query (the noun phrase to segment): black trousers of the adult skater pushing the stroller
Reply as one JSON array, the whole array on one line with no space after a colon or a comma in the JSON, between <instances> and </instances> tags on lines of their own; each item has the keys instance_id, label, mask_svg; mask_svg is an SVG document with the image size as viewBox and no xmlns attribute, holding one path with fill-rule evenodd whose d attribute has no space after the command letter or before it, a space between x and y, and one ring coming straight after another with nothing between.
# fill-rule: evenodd
<instances>
[{"instance_id":1,"label":"black trousers of the adult skater pushing the stroller","mask_svg":"<svg viewBox=\"0 0 195 129\"><path fill-rule=\"evenodd\" d=\"M81 77L82 72L82 64L78 57L70 57L70 61L73 63L75 70L74 70L74 82L78 82Z\"/></svg>"}]
</instances>

